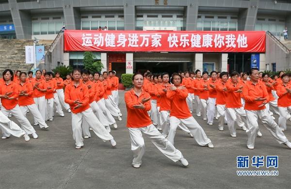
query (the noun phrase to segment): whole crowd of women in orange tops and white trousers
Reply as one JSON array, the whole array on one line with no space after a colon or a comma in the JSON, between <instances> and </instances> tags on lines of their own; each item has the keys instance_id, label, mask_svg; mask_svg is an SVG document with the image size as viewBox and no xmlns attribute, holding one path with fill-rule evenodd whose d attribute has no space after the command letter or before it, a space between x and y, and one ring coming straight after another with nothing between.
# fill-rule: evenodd
<instances>
[{"instance_id":1,"label":"whole crowd of women in orange tops and white trousers","mask_svg":"<svg viewBox=\"0 0 291 189\"><path fill-rule=\"evenodd\" d=\"M63 80L58 72L37 70L32 72L7 69L0 81L0 127L2 139L10 135L38 136L26 118L31 112L34 126L48 129L46 121L53 121L55 113L64 117L64 111L71 112L73 138L76 149L83 147L83 138L90 138L89 130L113 147L116 142L110 134L117 128L114 118L122 121L118 107L119 79L114 71L102 74L88 70L74 69ZM176 130L179 127L189 134L200 146L213 148L203 128L193 114L203 118L209 126L218 120L218 130L227 124L231 137L236 137L236 125L246 131L247 148L254 149L255 140L262 136L258 120L270 131L280 144L291 148L283 131L287 120L291 121L291 77L284 72L271 79L268 74L252 68L249 73L193 72L143 75L135 73L133 88L125 93L127 123L132 166L139 168L145 153L143 134L174 162L187 167L188 161L174 147ZM65 90L64 90L65 89ZM54 107L56 111L54 112ZM274 114L279 115L276 122ZM20 126L8 117L15 116Z\"/></svg>"}]
</instances>

